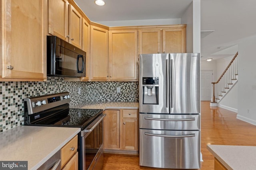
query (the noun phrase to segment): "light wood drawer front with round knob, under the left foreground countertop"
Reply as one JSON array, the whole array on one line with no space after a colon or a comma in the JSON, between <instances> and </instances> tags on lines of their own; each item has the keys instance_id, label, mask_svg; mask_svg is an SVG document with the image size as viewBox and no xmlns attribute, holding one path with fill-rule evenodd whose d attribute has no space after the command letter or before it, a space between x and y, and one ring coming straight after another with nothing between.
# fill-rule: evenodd
<instances>
[{"instance_id":1,"label":"light wood drawer front with round knob, under the left foreground countertop","mask_svg":"<svg viewBox=\"0 0 256 170\"><path fill-rule=\"evenodd\" d=\"M61 168L77 152L77 145L78 145L78 137L76 135L64 147L62 147L62 149L61 149Z\"/></svg>"}]
</instances>

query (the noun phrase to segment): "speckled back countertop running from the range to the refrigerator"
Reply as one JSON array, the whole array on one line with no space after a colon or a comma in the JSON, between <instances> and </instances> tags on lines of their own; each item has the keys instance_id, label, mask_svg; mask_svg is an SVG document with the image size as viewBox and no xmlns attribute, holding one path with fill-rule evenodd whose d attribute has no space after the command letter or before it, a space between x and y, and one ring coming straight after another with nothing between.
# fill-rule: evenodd
<instances>
[{"instance_id":1,"label":"speckled back countertop running from the range to the refrigerator","mask_svg":"<svg viewBox=\"0 0 256 170\"><path fill-rule=\"evenodd\" d=\"M138 109L138 102L83 102L78 105L70 106L73 109Z\"/></svg>"}]
</instances>

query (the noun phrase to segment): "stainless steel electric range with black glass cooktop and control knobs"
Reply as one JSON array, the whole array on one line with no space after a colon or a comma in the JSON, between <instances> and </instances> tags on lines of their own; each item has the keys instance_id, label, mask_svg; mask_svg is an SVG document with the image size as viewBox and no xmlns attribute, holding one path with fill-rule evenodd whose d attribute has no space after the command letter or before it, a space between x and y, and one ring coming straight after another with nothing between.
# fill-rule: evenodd
<instances>
[{"instance_id":1,"label":"stainless steel electric range with black glass cooktop and control knobs","mask_svg":"<svg viewBox=\"0 0 256 170\"><path fill-rule=\"evenodd\" d=\"M68 92L25 98L25 125L80 127L79 169L101 169L103 165L102 109L70 109Z\"/></svg>"}]
</instances>

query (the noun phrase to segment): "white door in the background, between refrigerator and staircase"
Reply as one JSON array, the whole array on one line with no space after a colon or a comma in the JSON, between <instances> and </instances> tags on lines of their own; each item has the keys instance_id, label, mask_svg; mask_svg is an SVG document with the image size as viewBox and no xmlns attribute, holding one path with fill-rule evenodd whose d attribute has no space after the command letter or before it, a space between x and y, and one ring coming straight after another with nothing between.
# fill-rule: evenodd
<instances>
[{"instance_id":1,"label":"white door in the background, between refrigerator and staircase","mask_svg":"<svg viewBox=\"0 0 256 170\"><path fill-rule=\"evenodd\" d=\"M201 70L201 101L211 100L212 82L213 82L213 71Z\"/></svg>"}]
</instances>

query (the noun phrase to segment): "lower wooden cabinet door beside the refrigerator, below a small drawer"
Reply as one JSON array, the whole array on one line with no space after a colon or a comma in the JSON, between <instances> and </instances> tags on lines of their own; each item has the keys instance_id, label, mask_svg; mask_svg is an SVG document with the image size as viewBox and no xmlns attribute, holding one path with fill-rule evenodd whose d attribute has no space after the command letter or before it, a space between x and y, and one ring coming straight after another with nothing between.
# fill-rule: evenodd
<instances>
[{"instance_id":1,"label":"lower wooden cabinet door beside the refrigerator, below a small drawer","mask_svg":"<svg viewBox=\"0 0 256 170\"><path fill-rule=\"evenodd\" d=\"M122 122L122 149L138 150L138 120L123 119Z\"/></svg>"}]
</instances>

